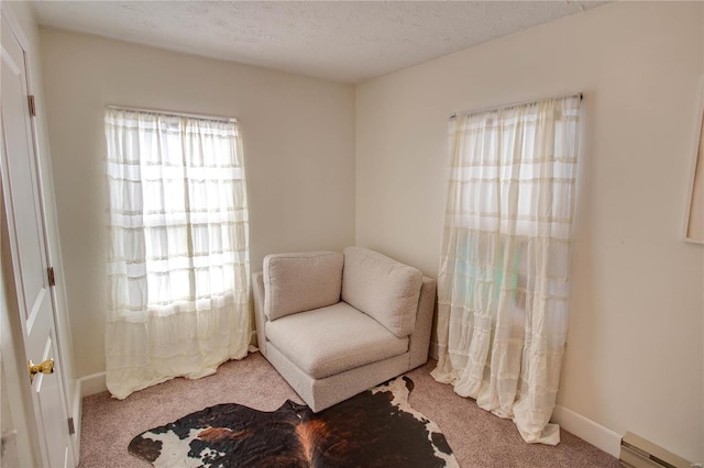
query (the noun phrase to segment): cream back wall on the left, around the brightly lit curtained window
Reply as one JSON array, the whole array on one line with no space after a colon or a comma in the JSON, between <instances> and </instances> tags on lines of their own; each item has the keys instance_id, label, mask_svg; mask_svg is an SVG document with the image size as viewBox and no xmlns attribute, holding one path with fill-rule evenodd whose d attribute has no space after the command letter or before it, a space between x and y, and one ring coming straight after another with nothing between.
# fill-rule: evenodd
<instances>
[{"instance_id":1,"label":"cream back wall on the left, around the brightly lit curtained window","mask_svg":"<svg viewBox=\"0 0 704 468\"><path fill-rule=\"evenodd\" d=\"M270 253L354 244L354 88L42 29L76 371L105 370L103 109L240 121L252 271Z\"/></svg>"}]
</instances>

